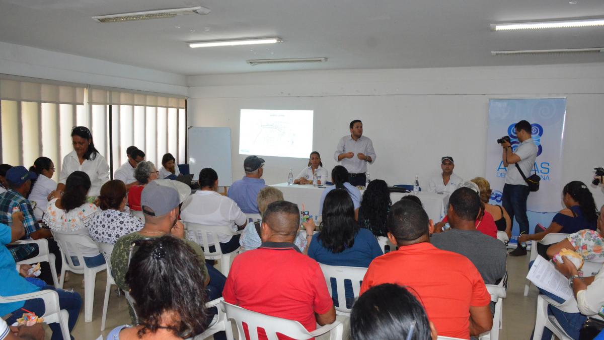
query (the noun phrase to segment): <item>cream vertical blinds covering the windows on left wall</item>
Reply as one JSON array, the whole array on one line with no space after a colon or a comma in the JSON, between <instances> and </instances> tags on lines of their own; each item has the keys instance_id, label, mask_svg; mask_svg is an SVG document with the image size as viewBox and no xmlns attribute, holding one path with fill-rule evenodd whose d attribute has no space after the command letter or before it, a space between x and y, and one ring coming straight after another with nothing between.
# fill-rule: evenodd
<instances>
[{"instance_id":1,"label":"cream vertical blinds covering the windows on left wall","mask_svg":"<svg viewBox=\"0 0 604 340\"><path fill-rule=\"evenodd\" d=\"M166 152L185 163L184 97L0 74L0 122L0 162L29 168L45 156L53 160L54 180L73 150L73 126L91 129L95 147L114 172L126 162L130 145L158 168Z\"/></svg>"}]
</instances>

